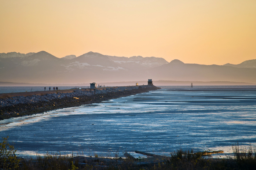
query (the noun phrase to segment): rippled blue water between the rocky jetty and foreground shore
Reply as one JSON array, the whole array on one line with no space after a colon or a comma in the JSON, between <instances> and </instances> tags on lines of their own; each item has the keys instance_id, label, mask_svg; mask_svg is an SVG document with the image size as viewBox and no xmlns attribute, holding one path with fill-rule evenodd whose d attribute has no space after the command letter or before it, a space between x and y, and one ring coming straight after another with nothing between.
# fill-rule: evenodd
<instances>
[{"instance_id":1,"label":"rippled blue water between the rocky jetty and foreground shore","mask_svg":"<svg viewBox=\"0 0 256 170\"><path fill-rule=\"evenodd\" d=\"M19 155L47 152L119 156L135 150L256 147L256 86L165 86L97 104L0 121Z\"/></svg>"}]
</instances>

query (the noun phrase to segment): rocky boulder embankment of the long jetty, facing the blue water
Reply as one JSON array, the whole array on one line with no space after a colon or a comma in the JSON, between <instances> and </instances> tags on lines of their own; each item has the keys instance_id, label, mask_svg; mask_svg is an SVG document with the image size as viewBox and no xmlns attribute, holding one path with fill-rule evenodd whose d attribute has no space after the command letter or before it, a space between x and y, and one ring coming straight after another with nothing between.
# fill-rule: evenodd
<instances>
[{"instance_id":1,"label":"rocky boulder embankment of the long jetty, facing the blue water","mask_svg":"<svg viewBox=\"0 0 256 170\"><path fill-rule=\"evenodd\" d=\"M113 88L100 88L90 92L86 89L74 89L73 92L61 92L44 95L17 95L9 98L0 99L0 120L12 117L20 117L42 113L58 108L74 107L83 104L99 103L103 100L115 99L118 97L135 95L149 90L160 89L153 85L143 86L121 86ZM53 91L48 91L53 92ZM29 92L28 92L29 93ZM43 93L43 92L42 92ZM45 93L45 92L44 92ZM11 93L10 93L11 95ZM0 97L8 97L8 94Z\"/></svg>"}]
</instances>

